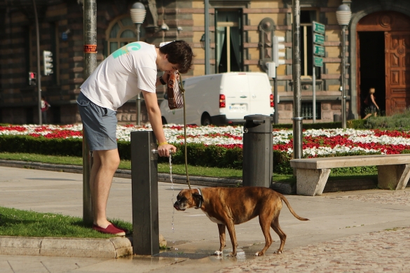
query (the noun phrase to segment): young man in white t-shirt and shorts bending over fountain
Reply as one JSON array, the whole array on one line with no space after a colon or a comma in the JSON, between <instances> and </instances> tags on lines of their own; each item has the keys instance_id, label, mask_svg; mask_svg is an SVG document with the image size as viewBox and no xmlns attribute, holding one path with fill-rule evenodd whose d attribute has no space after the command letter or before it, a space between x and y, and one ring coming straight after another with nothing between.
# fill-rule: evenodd
<instances>
[{"instance_id":1,"label":"young man in white t-shirt and shorts bending over fountain","mask_svg":"<svg viewBox=\"0 0 410 273\"><path fill-rule=\"evenodd\" d=\"M160 48L148 43L129 43L109 55L81 85L77 104L88 146L93 152L90 192L93 229L123 236L125 230L112 225L106 216L107 200L120 158L116 143L116 111L128 99L142 92L152 130L158 140L158 155L169 156L177 148L168 144L163 132L156 86L168 81L176 70L186 73L193 52L185 41L173 41ZM157 78L157 68L165 71Z\"/></svg>"}]
</instances>

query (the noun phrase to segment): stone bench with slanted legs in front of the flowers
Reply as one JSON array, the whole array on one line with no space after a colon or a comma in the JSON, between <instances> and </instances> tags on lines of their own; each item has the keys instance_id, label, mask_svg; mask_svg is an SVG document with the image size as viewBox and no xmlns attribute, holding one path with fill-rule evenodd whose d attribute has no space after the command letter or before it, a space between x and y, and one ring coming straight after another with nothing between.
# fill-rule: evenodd
<instances>
[{"instance_id":1,"label":"stone bench with slanted legs in front of the flowers","mask_svg":"<svg viewBox=\"0 0 410 273\"><path fill-rule=\"evenodd\" d=\"M377 166L378 187L386 190L404 190L410 178L410 154L301 158L290 166L296 169L297 195L322 195L333 168Z\"/></svg>"}]
</instances>

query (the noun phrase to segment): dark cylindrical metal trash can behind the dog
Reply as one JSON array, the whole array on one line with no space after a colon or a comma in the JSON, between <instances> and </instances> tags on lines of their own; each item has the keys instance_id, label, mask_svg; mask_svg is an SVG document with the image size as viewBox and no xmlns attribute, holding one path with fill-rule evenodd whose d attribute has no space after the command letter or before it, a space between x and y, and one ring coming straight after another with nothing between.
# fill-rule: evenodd
<instances>
[{"instance_id":1,"label":"dark cylindrical metal trash can behind the dog","mask_svg":"<svg viewBox=\"0 0 410 273\"><path fill-rule=\"evenodd\" d=\"M273 172L271 116L245 116L243 126L242 186L271 186Z\"/></svg>"}]
</instances>

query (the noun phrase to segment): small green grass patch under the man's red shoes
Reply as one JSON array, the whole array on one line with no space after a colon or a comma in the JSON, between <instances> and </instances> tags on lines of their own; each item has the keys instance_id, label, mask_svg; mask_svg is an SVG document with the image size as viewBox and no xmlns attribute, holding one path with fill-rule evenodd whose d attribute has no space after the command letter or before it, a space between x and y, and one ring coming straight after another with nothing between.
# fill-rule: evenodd
<instances>
[{"instance_id":1,"label":"small green grass patch under the man's red shoes","mask_svg":"<svg viewBox=\"0 0 410 273\"><path fill-rule=\"evenodd\" d=\"M111 223L132 231L132 223L110 219ZM83 224L83 219L0 207L0 235L24 237L111 238Z\"/></svg>"}]
</instances>

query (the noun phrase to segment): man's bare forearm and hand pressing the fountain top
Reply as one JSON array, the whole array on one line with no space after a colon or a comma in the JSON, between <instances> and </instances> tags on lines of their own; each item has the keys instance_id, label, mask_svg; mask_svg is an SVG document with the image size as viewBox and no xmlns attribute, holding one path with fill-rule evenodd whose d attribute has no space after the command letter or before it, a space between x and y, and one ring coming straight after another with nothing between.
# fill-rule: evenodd
<instances>
[{"instance_id":1,"label":"man's bare forearm and hand pressing the fountain top","mask_svg":"<svg viewBox=\"0 0 410 273\"><path fill-rule=\"evenodd\" d=\"M177 148L171 144L168 144L167 139L165 139L163 122L161 120L161 112L158 106L156 93L142 90L142 95L145 99L146 111L148 113L149 122L151 123L156 140L158 141L158 144L163 144L158 146L158 155L169 156L170 150L175 153Z\"/></svg>"}]
</instances>

